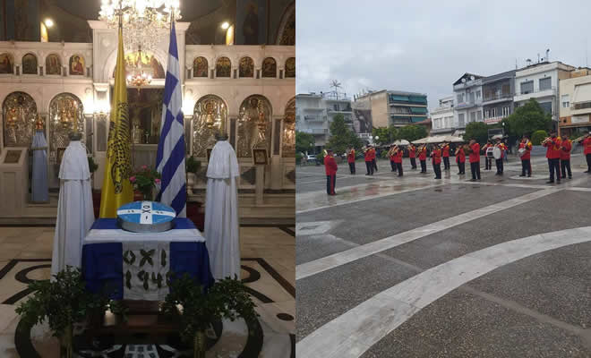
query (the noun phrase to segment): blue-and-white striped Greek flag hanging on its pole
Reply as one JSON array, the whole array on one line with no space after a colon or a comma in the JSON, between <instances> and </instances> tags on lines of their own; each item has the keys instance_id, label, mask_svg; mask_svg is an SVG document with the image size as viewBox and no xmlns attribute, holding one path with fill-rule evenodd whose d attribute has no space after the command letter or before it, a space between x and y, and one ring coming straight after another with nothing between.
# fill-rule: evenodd
<instances>
[{"instance_id":1,"label":"blue-and-white striped Greek flag hanging on its pole","mask_svg":"<svg viewBox=\"0 0 591 358\"><path fill-rule=\"evenodd\" d=\"M162 183L156 200L175 209L178 217L186 217L184 125L179 68L175 22L173 22L170 28L167 79L164 85L160 141L156 155L156 170L162 175Z\"/></svg>"}]
</instances>

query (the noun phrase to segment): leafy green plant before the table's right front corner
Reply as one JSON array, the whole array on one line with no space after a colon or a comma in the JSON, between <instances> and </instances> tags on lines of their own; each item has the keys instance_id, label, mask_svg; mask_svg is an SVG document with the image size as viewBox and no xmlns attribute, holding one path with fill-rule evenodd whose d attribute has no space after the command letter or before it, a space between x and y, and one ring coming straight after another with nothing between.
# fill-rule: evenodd
<instances>
[{"instance_id":1,"label":"leafy green plant before the table's right front corner","mask_svg":"<svg viewBox=\"0 0 591 358\"><path fill-rule=\"evenodd\" d=\"M164 312L177 322L184 342L193 345L193 358L205 357L205 330L214 320L256 320L253 300L236 278L219 280L206 291L185 274L172 279L168 286Z\"/></svg>"}]
</instances>

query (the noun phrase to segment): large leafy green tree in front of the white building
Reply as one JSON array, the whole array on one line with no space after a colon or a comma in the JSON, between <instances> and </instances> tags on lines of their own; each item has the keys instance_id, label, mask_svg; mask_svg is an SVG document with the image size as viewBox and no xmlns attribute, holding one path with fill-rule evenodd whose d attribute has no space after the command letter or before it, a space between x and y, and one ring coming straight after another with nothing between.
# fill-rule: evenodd
<instances>
[{"instance_id":1,"label":"large leafy green tree in front of the white building","mask_svg":"<svg viewBox=\"0 0 591 358\"><path fill-rule=\"evenodd\" d=\"M512 115L502 120L505 132L510 136L521 138L535 131L548 131L552 128L552 115L544 112L534 98L518 107Z\"/></svg>"}]
</instances>

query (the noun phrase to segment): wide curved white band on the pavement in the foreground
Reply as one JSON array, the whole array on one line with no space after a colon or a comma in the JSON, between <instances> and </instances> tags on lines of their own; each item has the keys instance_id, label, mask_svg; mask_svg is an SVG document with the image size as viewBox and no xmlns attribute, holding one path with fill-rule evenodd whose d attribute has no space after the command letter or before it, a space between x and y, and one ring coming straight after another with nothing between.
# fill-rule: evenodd
<instances>
[{"instance_id":1,"label":"wide curved white band on the pavement in the foreground","mask_svg":"<svg viewBox=\"0 0 591 358\"><path fill-rule=\"evenodd\" d=\"M450 260L390 287L295 345L306 358L357 358L416 312L495 268L540 252L591 241L591 226L536 234Z\"/></svg>"}]
</instances>

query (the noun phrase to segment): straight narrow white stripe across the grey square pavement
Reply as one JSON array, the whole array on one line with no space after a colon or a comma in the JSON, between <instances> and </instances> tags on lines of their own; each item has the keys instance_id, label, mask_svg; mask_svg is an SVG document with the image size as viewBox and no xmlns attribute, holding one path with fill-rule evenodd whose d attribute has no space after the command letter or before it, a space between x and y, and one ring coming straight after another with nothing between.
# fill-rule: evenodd
<instances>
[{"instance_id":1,"label":"straight narrow white stripe across the grey square pavement","mask_svg":"<svg viewBox=\"0 0 591 358\"><path fill-rule=\"evenodd\" d=\"M517 205L524 204L528 201L536 200L546 195L550 195L554 192L560 192L561 190L563 189L549 188L538 192L530 192L526 195L522 195L517 198L501 201L481 209L468 211L464 214L460 214L455 217L449 217L426 226L417 227L413 230L409 230L404 233L385 237L381 240L374 241L373 243L366 243L364 245L346 251L334 253L332 255L323 257L318 260L303 263L295 267L295 279L299 280L305 277L316 275L322 271L326 271L331 268L336 268L338 266L345 265L355 260L363 259L364 257L373 255L374 253L390 250L391 248L401 245L403 243L409 243L429 234L434 234L453 226L465 224L468 221L472 221L480 217L485 217L487 215L491 215L492 213L496 213L504 209L510 209Z\"/></svg>"}]
</instances>

